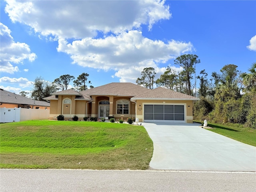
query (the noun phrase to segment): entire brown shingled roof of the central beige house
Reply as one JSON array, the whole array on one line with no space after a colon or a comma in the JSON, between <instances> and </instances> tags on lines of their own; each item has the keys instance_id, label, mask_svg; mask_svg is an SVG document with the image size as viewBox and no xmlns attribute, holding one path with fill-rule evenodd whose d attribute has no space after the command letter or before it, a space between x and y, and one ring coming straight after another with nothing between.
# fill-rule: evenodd
<instances>
[{"instance_id":1,"label":"entire brown shingled roof of the central beige house","mask_svg":"<svg viewBox=\"0 0 256 192\"><path fill-rule=\"evenodd\" d=\"M200 100L199 98L179 93L166 88L158 87L153 90L144 88L133 83L109 83L99 87L87 89L81 92L75 90L64 90L53 93L53 96L44 98L45 100L58 100L56 95L76 95L75 100L92 100L94 95L114 95L130 96L132 101L142 100Z\"/></svg>"}]
</instances>

